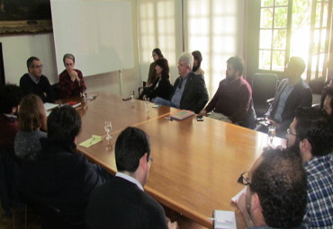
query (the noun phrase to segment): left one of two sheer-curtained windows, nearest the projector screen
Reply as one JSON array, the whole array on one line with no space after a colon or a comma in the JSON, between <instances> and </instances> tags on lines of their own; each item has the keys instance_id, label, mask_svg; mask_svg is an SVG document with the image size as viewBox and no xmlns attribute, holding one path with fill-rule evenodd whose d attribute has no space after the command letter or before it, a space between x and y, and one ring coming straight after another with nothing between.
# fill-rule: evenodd
<instances>
[{"instance_id":1,"label":"left one of two sheer-curtained windows, nearest the projector screen","mask_svg":"<svg viewBox=\"0 0 333 229\"><path fill-rule=\"evenodd\" d=\"M160 48L175 77L175 1L139 0L139 62L143 81L147 80L148 66L153 62L151 52Z\"/></svg>"}]
</instances>

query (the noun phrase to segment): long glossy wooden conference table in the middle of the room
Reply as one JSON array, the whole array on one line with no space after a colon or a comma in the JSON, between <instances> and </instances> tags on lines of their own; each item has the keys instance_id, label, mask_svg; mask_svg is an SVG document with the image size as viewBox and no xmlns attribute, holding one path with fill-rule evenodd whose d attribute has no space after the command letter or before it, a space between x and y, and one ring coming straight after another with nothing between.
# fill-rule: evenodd
<instances>
[{"instance_id":1,"label":"long glossy wooden conference table in the middle of the room","mask_svg":"<svg viewBox=\"0 0 333 229\"><path fill-rule=\"evenodd\" d=\"M147 118L143 101L122 101L116 95L100 93L78 109L83 126L77 142L92 135L104 136L105 120L112 121L113 138L88 148L78 145L78 150L115 173L113 148L121 130L128 126L143 129L150 137L154 159L145 190L166 207L211 228L208 218L214 209L237 209L230 198L244 188L237 182L239 174L248 171L261 154L267 136L209 118L170 121L166 118L176 109L152 105ZM282 139L275 141L284 144ZM238 222L238 228L242 227Z\"/></svg>"}]
</instances>

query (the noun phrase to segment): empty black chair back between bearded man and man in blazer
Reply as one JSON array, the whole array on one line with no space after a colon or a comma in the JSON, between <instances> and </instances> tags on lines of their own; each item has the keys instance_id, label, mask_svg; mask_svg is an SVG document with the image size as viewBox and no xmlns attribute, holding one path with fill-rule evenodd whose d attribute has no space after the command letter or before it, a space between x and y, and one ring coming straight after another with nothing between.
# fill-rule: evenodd
<instances>
[{"instance_id":1,"label":"empty black chair back between bearded man and man in blazer","mask_svg":"<svg viewBox=\"0 0 333 229\"><path fill-rule=\"evenodd\" d=\"M278 77L276 74L257 73L252 79L252 99L257 117L264 117L269 100L275 97ZM273 100L271 100L273 101Z\"/></svg>"}]
</instances>

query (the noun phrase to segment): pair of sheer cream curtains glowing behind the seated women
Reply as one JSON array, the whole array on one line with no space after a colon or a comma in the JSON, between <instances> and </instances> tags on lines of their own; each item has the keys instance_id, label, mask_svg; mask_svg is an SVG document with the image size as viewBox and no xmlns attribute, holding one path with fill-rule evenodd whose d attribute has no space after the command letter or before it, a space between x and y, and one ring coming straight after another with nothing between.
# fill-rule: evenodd
<instances>
[{"instance_id":1,"label":"pair of sheer cream curtains glowing behind the seated women","mask_svg":"<svg viewBox=\"0 0 333 229\"><path fill-rule=\"evenodd\" d=\"M210 98L225 78L226 61L243 57L243 0L139 0L139 65L147 80L151 51L161 48L169 61L172 83L183 51L202 52L202 69Z\"/></svg>"}]
</instances>

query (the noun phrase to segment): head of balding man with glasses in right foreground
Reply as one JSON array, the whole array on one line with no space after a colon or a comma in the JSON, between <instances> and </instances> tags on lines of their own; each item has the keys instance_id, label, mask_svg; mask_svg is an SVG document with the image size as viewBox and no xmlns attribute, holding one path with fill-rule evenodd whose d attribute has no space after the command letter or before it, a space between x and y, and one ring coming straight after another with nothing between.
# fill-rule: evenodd
<instances>
[{"instance_id":1,"label":"head of balding man with glasses in right foreground","mask_svg":"<svg viewBox=\"0 0 333 229\"><path fill-rule=\"evenodd\" d=\"M247 191L237 205L247 228L299 228L306 207L300 157L288 150L266 148L246 174L239 181L247 185Z\"/></svg>"}]
</instances>

